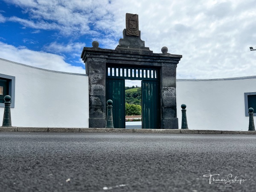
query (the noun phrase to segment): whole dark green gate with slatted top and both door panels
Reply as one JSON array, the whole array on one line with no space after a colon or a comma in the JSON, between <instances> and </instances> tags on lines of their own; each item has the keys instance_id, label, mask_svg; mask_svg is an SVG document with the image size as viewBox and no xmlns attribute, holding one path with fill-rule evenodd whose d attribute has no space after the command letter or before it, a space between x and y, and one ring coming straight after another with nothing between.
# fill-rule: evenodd
<instances>
[{"instance_id":1,"label":"whole dark green gate with slatted top and both door panels","mask_svg":"<svg viewBox=\"0 0 256 192\"><path fill-rule=\"evenodd\" d=\"M113 126L125 128L125 79L142 80L142 128L160 128L159 70L107 65L106 101L113 101Z\"/></svg>"}]
</instances>

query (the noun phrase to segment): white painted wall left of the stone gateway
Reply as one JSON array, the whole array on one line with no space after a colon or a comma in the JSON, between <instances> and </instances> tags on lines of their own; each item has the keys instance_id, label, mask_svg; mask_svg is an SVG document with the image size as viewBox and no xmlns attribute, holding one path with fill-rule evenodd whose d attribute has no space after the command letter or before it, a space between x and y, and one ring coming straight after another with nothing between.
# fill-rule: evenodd
<instances>
[{"instance_id":1,"label":"white painted wall left of the stone gateway","mask_svg":"<svg viewBox=\"0 0 256 192\"><path fill-rule=\"evenodd\" d=\"M0 59L0 73L15 76L12 126L88 128L88 76L43 70L4 59ZM3 111L0 108L0 119Z\"/></svg>"}]
</instances>

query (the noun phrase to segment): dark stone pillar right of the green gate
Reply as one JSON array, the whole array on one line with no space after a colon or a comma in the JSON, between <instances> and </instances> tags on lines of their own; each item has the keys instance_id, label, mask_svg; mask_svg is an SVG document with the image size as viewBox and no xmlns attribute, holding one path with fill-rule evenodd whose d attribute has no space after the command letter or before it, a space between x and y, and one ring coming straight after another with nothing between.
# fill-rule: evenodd
<instances>
[{"instance_id":1,"label":"dark stone pillar right of the green gate","mask_svg":"<svg viewBox=\"0 0 256 192\"><path fill-rule=\"evenodd\" d=\"M176 106L176 67L163 66L160 70L161 88L161 128L178 129L177 106Z\"/></svg>"}]
</instances>

